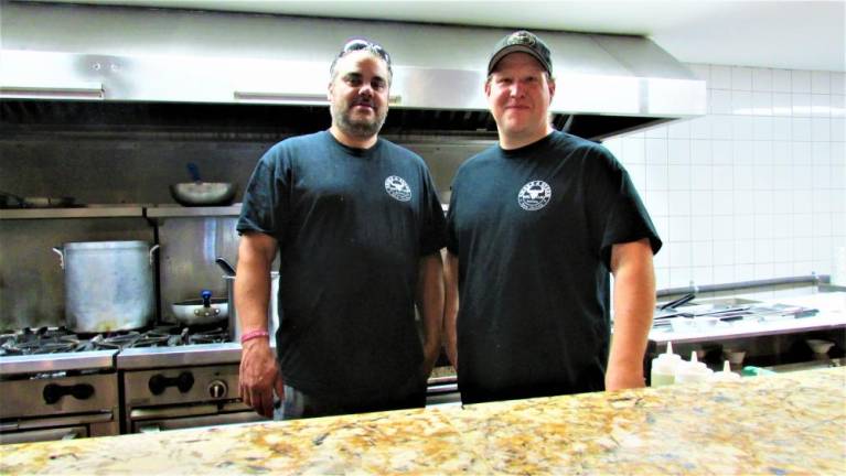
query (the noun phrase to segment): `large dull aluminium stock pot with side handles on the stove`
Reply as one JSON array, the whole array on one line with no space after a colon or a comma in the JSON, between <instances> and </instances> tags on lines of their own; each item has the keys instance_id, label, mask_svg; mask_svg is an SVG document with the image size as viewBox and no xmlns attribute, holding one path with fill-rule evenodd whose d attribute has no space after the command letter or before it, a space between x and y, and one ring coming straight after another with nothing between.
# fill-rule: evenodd
<instances>
[{"instance_id":1,"label":"large dull aluminium stock pot with side handles on the stove","mask_svg":"<svg viewBox=\"0 0 846 476\"><path fill-rule=\"evenodd\" d=\"M153 257L146 241L83 241L53 248L65 270L65 320L77 333L146 327L156 318Z\"/></svg>"}]
</instances>

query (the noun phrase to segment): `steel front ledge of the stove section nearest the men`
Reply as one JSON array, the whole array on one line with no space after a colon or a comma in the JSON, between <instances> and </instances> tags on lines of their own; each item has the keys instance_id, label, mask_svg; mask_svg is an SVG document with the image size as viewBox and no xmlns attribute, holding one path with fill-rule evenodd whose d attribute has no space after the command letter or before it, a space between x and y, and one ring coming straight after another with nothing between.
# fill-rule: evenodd
<instances>
[{"instance_id":1,"label":"steel front ledge of the stove section nearest the men","mask_svg":"<svg viewBox=\"0 0 846 476\"><path fill-rule=\"evenodd\" d=\"M117 356L119 370L239 363L240 344L236 343L130 348Z\"/></svg>"}]
</instances>

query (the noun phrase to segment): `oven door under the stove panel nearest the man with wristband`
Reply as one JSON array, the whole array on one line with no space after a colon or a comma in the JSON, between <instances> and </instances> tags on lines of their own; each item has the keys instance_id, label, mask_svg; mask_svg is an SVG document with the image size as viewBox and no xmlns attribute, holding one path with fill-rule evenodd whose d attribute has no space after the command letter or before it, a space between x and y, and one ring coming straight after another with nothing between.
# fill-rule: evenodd
<instances>
[{"instance_id":1,"label":"oven door under the stove panel nearest the man with wristband","mask_svg":"<svg viewBox=\"0 0 846 476\"><path fill-rule=\"evenodd\" d=\"M240 402L227 403L222 407L200 404L140 408L129 412L129 430L132 433L147 433L266 420Z\"/></svg>"}]
</instances>

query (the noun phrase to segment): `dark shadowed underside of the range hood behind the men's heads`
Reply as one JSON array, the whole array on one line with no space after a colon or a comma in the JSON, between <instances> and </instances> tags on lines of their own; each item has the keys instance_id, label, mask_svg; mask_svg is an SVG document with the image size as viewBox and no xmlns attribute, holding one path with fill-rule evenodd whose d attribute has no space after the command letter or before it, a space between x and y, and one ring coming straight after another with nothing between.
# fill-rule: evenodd
<instances>
[{"instance_id":1,"label":"dark shadowed underside of the range hood behind the men's heads","mask_svg":"<svg viewBox=\"0 0 846 476\"><path fill-rule=\"evenodd\" d=\"M171 133L236 141L259 137L268 141L280 140L325 130L331 122L329 108L324 106L55 99L6 99L0 102L0 118L3 133ZM610 130L635 130L661 121L645 117L553 115L553 126L557 130L593 140L600 140ZM486 110L394 108L382 133L495 139L496 123Z\"/></svg>"}]
</instances>

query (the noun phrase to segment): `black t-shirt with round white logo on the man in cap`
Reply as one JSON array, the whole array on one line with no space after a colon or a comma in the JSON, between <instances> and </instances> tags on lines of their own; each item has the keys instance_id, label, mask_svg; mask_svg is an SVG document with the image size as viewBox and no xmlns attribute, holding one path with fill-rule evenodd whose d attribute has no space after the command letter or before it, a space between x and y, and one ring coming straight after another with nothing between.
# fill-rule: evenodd
<instances>
[{"instance_id":1,"label":"black t-shirt with round white logo on the man in cap","mask_svg":"<svg viewBox=\"0 0 846 476\"><path fill-rule=\"evenodd\" d=\"M602 390L611 246L661 248L625 170L563 132L468 160L452 184L465 403Z\"/></svg>"}]
</instances>

